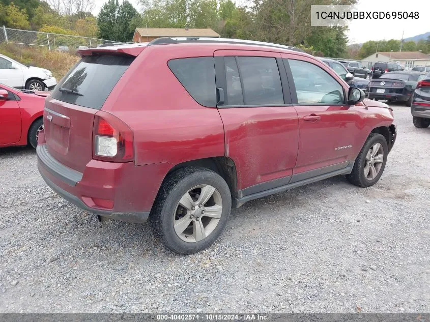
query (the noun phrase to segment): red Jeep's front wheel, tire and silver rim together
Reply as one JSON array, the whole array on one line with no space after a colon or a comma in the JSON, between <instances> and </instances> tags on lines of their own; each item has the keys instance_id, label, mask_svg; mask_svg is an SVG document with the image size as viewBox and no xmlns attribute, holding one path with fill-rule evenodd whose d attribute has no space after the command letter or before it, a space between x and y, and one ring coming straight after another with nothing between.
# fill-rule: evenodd
<instances>
[{"instance_id":1,"label":"red Jeep's front wheel, tire and silver rim together","mask_svg":"<svg viewBox=\"0 0 430 322\"><path fill-rule=\"evenodd\" d=\"M370 187L381 178L388 156L388 145L381 134L370 133L347 179L359 187Z\"/></svg>"}]
</instances>

